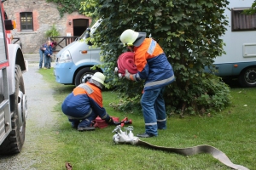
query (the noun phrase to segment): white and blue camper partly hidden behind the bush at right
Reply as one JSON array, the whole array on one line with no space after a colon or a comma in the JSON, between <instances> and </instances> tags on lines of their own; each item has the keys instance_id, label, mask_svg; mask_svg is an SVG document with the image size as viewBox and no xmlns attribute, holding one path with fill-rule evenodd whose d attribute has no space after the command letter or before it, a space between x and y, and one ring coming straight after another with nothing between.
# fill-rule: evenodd
<instances>
[{"instance_id":1,"label":"white and blue camper partly hidden behind the bush at right","mask_svg":"<svg viewBox=\"0 0 256 170\"><path fill-rule=\"evenodd\" d=\"M224 34L226 54L216 57L219 77L238 77L242 87L256 87L256 14L241 14L253 0L230 0L224 15L229 26Z\"/></svg>"}]
</instances>

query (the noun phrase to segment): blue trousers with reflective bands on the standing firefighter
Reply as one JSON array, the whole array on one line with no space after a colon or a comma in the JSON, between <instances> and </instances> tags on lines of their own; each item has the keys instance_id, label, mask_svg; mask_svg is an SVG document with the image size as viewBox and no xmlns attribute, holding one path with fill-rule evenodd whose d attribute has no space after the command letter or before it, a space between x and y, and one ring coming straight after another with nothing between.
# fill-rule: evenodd
<instances>
[{"instance_id":1,"label":"blue trousers with reflective bands on the standing firefighter","mask_svg":"<svg viewBox=\"0 0 256 170\"><path fill-rule=\"evenodd\" d=\"M165 87L144 91L141 99L146 133L158 135L158 129L166 129L166 106L163 97Z\"/></svg>"}]
</instances>

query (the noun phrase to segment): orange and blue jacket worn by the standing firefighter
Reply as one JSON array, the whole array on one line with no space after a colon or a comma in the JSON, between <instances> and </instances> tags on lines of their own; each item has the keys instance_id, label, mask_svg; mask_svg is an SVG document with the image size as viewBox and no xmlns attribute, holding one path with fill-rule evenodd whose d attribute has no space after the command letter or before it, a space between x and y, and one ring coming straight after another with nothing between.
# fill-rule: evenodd
<instances>
[{"instance_id":1,"label":"orange and blue jacket worn by the standing firefighter","mask_svg":"<svg viewBox=\"0 0 256 170\"><path fill-rule=\"evenodd\" d=\"M162 88L175 80L172 65L163 49L152 38L145 38L139 47L134 47L134 63L137 66L136 81L145 79L144 90Z\"/></svg>"}]
</instances>

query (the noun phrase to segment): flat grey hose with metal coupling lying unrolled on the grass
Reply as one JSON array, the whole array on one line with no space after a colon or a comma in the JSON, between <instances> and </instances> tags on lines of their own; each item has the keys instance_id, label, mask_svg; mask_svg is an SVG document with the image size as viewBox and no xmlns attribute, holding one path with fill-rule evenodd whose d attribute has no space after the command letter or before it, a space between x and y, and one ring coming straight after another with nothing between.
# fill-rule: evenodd
<instances>
[{"instance_id":1,"label":"flat grey hose with metal coupling lying unrolled on the grass","mask_svg":"<svg viewBox=\"0 0 256 170\"><path fill-rule=\"evenodd\" d=\"M126 131L123 132L121 130L120 126L117 126L113 129L113 142L115 144L132 144L132 145L138 145L147 147L154 150L163 150L168 151L172 153L177 153L183 156L193 156L196 154L201 153L207 153L212 155L214 158L218 159L218 161L222 162L227 167L231 167L234 169L240 169L240 170L248 170L247 167L243 167L241 165L236 165L230 161L229 157L224 154L224 152L218 150L217 148L203 144L203 145L197 145L194 147L189 148L170 148L170 147L163 147L163 146L157 146L154 144L149 144L147 142L144 142L140 140L139 138L135 137L133 133L131 132L133 130L132 126L125 127Z\"/></svg>"}]
</instances>

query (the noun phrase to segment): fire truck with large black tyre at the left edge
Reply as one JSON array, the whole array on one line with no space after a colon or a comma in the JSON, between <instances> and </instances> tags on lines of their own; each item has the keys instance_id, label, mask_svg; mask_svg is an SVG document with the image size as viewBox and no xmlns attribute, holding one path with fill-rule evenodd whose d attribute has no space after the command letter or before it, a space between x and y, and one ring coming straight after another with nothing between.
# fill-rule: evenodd
<instances>
[{"instance_id":1,"label":"fire truck with large black tyre at the left edge","mask_svg":"<svg viewBox=\"0 0 256 170\"><path fill-rule=\"evenodd\" d=\"M27 99L22 72L26 62L18 44L12 44L15 21L8 20L0 2L0 155L19 153L25 141Z\"/></svg>"}]
</instances>

